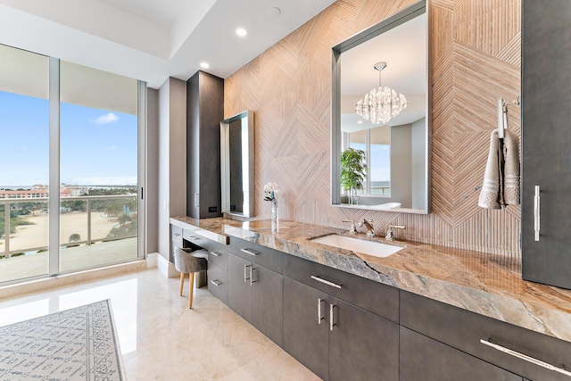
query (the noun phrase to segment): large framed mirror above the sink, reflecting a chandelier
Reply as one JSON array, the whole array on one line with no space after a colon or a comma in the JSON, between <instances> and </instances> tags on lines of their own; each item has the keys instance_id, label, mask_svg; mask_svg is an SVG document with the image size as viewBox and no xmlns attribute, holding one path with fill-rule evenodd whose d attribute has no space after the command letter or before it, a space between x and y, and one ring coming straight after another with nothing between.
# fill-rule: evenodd
<instances>
[{"instance_id":1,"label":"large framed mirror above the sink, reflecting a chandelier","mask_svg":"<svg viewBox=\"0 0 571 381\"><path fill-rule=\"evenodd\" d=\"M333 205L430 212L428 52L425 0L333 48Z\"/></svg>"}]
</instances>

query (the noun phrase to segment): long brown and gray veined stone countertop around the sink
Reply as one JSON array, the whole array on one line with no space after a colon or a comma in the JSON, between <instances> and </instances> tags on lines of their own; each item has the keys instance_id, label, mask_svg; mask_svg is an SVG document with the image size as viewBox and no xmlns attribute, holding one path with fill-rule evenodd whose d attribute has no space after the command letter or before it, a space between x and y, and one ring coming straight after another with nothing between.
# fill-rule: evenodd
<instances>
[{"instance_id":1,"label":"long brown and gray veined stone countertop around the sink","mask_svg":"<svg viewBox=\"0 0 571 381\"><path fill-rule=\"evenodd\" d=\"M571 342L571 290L522 280L518 259L432 244L386 243L382 237L356 235L404 247L378 258L310 241L330 234L350 236L346 230L287 220L272 224L268 219L241 222L181 217L170 222L220 243L236 236Z\"/></svg>"}]
</instances>

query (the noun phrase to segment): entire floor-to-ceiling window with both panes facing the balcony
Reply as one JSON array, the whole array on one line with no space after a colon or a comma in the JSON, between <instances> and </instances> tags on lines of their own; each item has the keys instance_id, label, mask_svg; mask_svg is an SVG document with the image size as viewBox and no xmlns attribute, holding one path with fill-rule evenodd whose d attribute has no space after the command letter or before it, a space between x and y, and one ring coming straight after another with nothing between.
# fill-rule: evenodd
<instances>
[{"instance_id":1,"label":"entire floor-to-ceiling window with both panes facing the balcony","mask_svg":"<svg viewBox=\"0 0 571 381\"><path fill-rule=\"evenodd\" d=\"M142 255L144 84L0 49L0 282Z\"/></svg>"}]
</instances>

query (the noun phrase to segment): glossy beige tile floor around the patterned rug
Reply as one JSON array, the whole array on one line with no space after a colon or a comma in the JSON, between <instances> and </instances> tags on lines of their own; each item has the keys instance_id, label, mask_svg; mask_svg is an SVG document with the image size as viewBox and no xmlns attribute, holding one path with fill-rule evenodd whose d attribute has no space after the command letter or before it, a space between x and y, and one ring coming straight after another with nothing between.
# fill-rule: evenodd
<instances>
[{"instance_id":1,"label":"glossy beige tile floor around the patterned rug","mask_svg":"<svg viewBox=\"0 0 571 381\"><path fill-rule=\"evenodd\" d=\"M188 282L188 279L186 279ZM111 299L123 365L132 380L319 380L213 297L157 269L0 300L0 326Z\"/></svg>"}]
</instances>

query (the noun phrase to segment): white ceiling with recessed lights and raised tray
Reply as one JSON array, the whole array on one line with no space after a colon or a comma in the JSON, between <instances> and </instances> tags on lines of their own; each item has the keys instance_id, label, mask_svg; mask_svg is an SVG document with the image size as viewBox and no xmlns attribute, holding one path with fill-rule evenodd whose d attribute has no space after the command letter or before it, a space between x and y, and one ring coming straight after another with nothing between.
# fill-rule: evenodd
<instances>
[{"instance_id":1,"label":"white ceiling with recessed lights and raised tray","mask_svg":"<svg viewBox=\"0 0 571 381\"><path fill-rule=\"evenodd\" d=\"M335 0L0 0L0 44L158 88L226 78ZM273 15L270 9L280 13ZM248 31L236 36L236 29Z\"/></svg>"}]
</instances>

